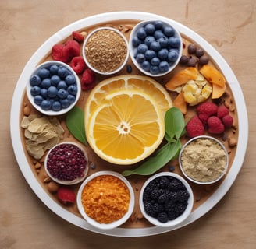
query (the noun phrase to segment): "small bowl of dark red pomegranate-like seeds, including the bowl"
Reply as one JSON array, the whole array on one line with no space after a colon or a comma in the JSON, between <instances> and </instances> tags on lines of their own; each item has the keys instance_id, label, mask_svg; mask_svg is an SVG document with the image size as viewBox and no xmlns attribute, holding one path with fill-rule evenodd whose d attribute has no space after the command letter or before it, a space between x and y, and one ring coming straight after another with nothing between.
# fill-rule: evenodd
<instances>
[{"instance_id":1,"label":"small bowl of dark red pomegranate-like seeds, including the bowl","mask_svg":"<svg viewBox=\"0 0 256 249\"><path fill-rule=\"evenodd\" d=\"M62 142L52 147L45 157L44 169L59 184L77 184L87 177L88 156L74 142Z\"/></svg>"}]
</instances>

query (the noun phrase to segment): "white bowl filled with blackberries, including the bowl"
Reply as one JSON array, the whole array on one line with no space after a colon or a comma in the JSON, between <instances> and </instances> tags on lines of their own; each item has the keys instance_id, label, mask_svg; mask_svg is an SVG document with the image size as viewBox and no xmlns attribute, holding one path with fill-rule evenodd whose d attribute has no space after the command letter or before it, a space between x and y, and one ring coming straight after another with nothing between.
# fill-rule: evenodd
<instances>
[{"instance_id":1,"label":"white bowl filled with blackberries, including the bowl","mask_svg":"<svg viewBox=\"0 0 256 249\"><path fill-rule=\"evenodd\" d=\"M194 195L183 177L172 172L162 172L145 181L139 202L140 211L151 224L170 227L190 216Z\"/></svg>"}]
</instances>

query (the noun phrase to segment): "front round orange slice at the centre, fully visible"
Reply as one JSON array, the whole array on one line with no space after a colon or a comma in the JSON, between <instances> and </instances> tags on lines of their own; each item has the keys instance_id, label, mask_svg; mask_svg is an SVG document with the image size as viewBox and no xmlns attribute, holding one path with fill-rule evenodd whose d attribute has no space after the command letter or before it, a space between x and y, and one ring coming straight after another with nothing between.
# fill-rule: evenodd
<instances>
[{"instance_id":1,"label":"front round orange slice at the centre, fully visible","mask_svg":"<svg viewBox=\"0 0 256 249\"><path fill-rule=\"evenodd\" d=\"M133 164L157 149L165 134L158 103L140 91L108 93L95 107L87 125L87 141L102 159Z\"/></svg>"}]
</instances>

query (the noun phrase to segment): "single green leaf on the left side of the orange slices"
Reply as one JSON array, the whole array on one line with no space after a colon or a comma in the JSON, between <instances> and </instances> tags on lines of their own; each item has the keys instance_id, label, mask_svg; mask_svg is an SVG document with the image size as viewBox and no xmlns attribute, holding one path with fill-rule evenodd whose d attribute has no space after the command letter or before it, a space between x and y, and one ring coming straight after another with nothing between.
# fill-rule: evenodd
<instances>
[{"instance_id":1,"label":"single green leaf on the left side of the orange slices","mask_svg":"<svg viewBox=\"0 0 256 249\"><path fill-rule=\"evenodd\" d=\"M79 107L73 107L66 115L66 126L69 132L80 142L87 145L84 128L84 111Z\"/></svg>"}]
</instances>

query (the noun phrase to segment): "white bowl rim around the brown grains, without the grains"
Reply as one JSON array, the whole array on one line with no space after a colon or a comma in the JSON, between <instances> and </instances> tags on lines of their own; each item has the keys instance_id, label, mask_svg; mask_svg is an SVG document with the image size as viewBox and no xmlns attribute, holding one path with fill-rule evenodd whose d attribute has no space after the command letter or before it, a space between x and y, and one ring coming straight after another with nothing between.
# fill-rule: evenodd
<instances>
[{"instance_id":1,"label":"white bowl rim around the brown grains, without the grains","mask_svg":"<svg viewBox=\"0 0 256 249\"><path fill-rule=\"evenodd\" d=\"M95 35L95 33L98 33L98 32L101 32L101 30L110 30L110 31L113 31L115 33L117 33L119 35L119 37L122 37L123 38L123 41L124 43L126 44L126 56L125 58L123 59L123 63L118 67L118 68L115 68L113 69L112 71L108 71L108 72L103 72L103 70L100 70L99 68L95 68L93 65L91 65L91 63L88 61L87 59L87 55L85 53L85 49L87 47L87 42L88 40L91 39L91 37L93 35ZM102 40L102 42L105 42L106 40L108 40L108 37L105 37L104 40ZM103 46L102 46L103 47ZM105 46L105 47L108 47L108 46ZM85 61L85 64L88 66L88 68L91 68L91 70L93 70L94 72L98 73L98 74L101 74L101 75L113 75L115 74L116 72L119 72L125 65L126 65L126 62L129 58L129 50L128 50L128 42L126 40L126 37L123 36L123 33L121 33L119 30L116 30L114 28L111 28L111 27L100 27L98 29L95 29L93 30L91 33L88 34L88 36L86 37L86 39L84 40L84 44L83 44L83 49L82 49L82 54L83 54L83 58L84 58L84 61ZM116 57L116 56L115 56ZM101 58L99 58L99 60L101 60ZM111 63L112 61L109 61L108 63Z\"/></svg>"}]
</instances>

